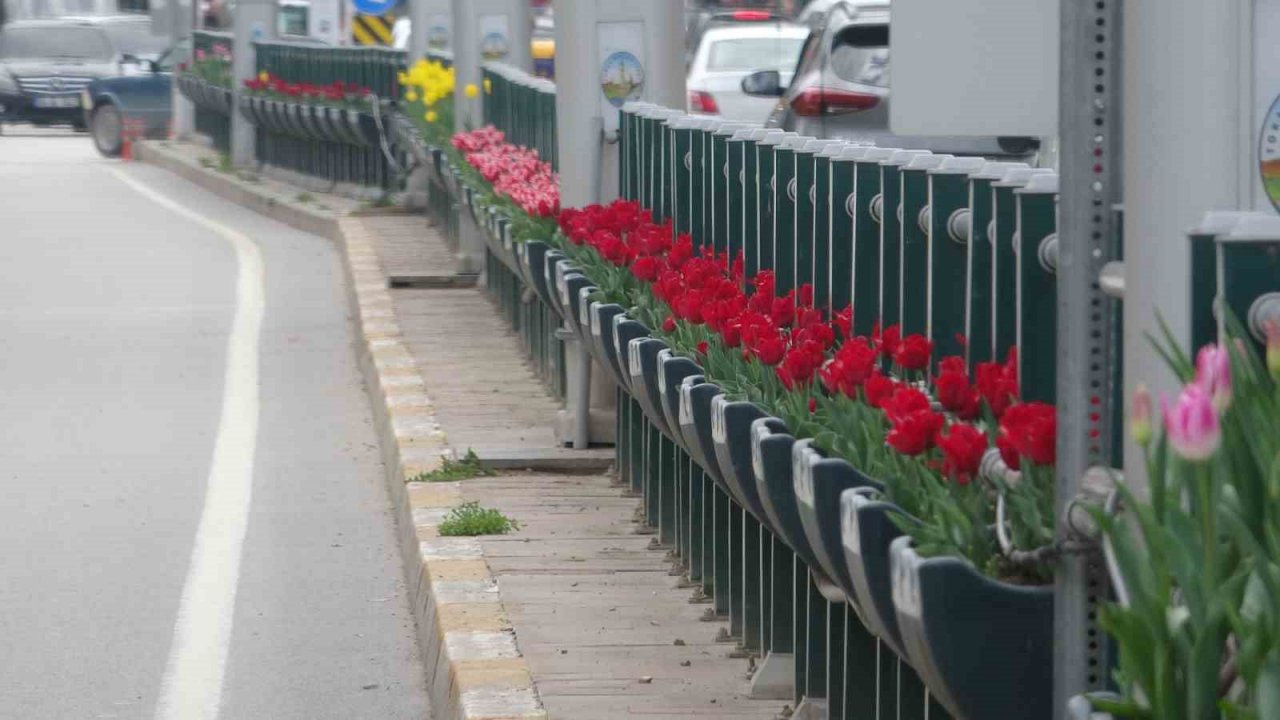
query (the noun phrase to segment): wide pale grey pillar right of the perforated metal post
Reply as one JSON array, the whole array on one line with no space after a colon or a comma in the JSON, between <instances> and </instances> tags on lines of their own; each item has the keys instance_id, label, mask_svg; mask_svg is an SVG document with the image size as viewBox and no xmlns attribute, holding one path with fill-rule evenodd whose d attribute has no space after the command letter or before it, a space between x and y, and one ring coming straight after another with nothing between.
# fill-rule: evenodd
<instances>
[{"instance_id":1,"label":"wide pale grey pillar right of the perforated metal post","mask_svg":"<svg viewBox=\"0 0 1280 720\"><path fill-rule=\"evenodd\" d=\"M1125 397L1172 393L1152 351L1157 314L1189 342L1187 232L1208 210L1249 208L1251 3L1128 0L1124 5ZM1188 101L1187 90L1194 90ZM1179 99L1181 95L1181 99ZM1252 138L1251 138L1252 136ZM1125 470L1144 484L1129 442Z\"/></svg>"}]
</instances>

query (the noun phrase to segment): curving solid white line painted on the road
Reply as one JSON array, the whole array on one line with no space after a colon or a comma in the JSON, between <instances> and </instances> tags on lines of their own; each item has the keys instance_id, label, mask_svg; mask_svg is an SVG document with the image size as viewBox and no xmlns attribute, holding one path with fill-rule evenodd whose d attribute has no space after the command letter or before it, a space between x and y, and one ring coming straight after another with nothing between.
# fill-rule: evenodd
<instances>
[{"instance_id":1,"label":"curving solid white line painted on the road","mask_svg":"<svg viewBox=\"0 0 1280 720\"><path fill-rule=\"evenodd\" d=\"M111 172L157 205L218 233L236 250L236 316L227 341L227 377L218 441L155 714L156 720L214 720L221 702L241 548L253 495L259 337L265 295L262 255L257 243L244 234L118 169Z\"/></svg>"}]
</instances>

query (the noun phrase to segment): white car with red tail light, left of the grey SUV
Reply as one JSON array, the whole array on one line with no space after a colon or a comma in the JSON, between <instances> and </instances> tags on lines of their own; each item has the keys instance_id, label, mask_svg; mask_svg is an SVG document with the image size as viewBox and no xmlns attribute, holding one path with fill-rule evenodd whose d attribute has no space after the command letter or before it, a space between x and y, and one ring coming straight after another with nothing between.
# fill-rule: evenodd
<instances>
[{"instance_id":1,"label":"white car with red tail light, left of the grey SUV","mask_svg":"<svg viewBox=\"0 0 1280 720\"><path fill-rule=\"evenodd\" d=\"M687 110L726 120L763 123L777 99L742 92L742 78L755 70L778 70L791 82L809 28L786 22L712 27L703 33L689 67Z\"/></svg>"}]
</instances>

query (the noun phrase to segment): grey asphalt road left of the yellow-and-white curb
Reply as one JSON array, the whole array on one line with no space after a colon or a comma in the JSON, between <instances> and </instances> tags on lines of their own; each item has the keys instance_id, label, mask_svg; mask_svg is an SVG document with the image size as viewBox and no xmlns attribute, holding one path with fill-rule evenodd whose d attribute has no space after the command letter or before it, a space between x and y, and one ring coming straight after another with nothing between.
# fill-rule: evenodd
<instances>
[{"instance_id":1,"label":"grey asphalt road left of the yellow-and-white curb","mask_svg":"<svg viewBox=\"0 0 1280 720\"><path fill-rule=\"evenodd\" d=\"M0 717L429 716L328 241L6 128L0 373Z\"/></svg>"}]
</instances>

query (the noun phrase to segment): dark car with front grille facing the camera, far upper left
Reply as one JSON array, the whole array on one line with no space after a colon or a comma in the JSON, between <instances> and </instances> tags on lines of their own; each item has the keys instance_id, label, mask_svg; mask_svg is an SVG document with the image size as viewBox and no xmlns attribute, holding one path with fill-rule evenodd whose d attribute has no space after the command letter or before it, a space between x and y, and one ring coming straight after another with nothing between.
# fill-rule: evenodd
<instances>
[{"instance_id":1,"label":"dark car with front grille facing the camera, far upper left","mask_svg":"<svg viewBox=\"0 0 1280 720\"><path fill-rule=\"evenodd\" d=\"M0 28L0 124L84 127L81 92L142 74L163 44L146 17L19 20ZM163 42L163 41L161 41Z\"/></svg>"}]
</instances>

